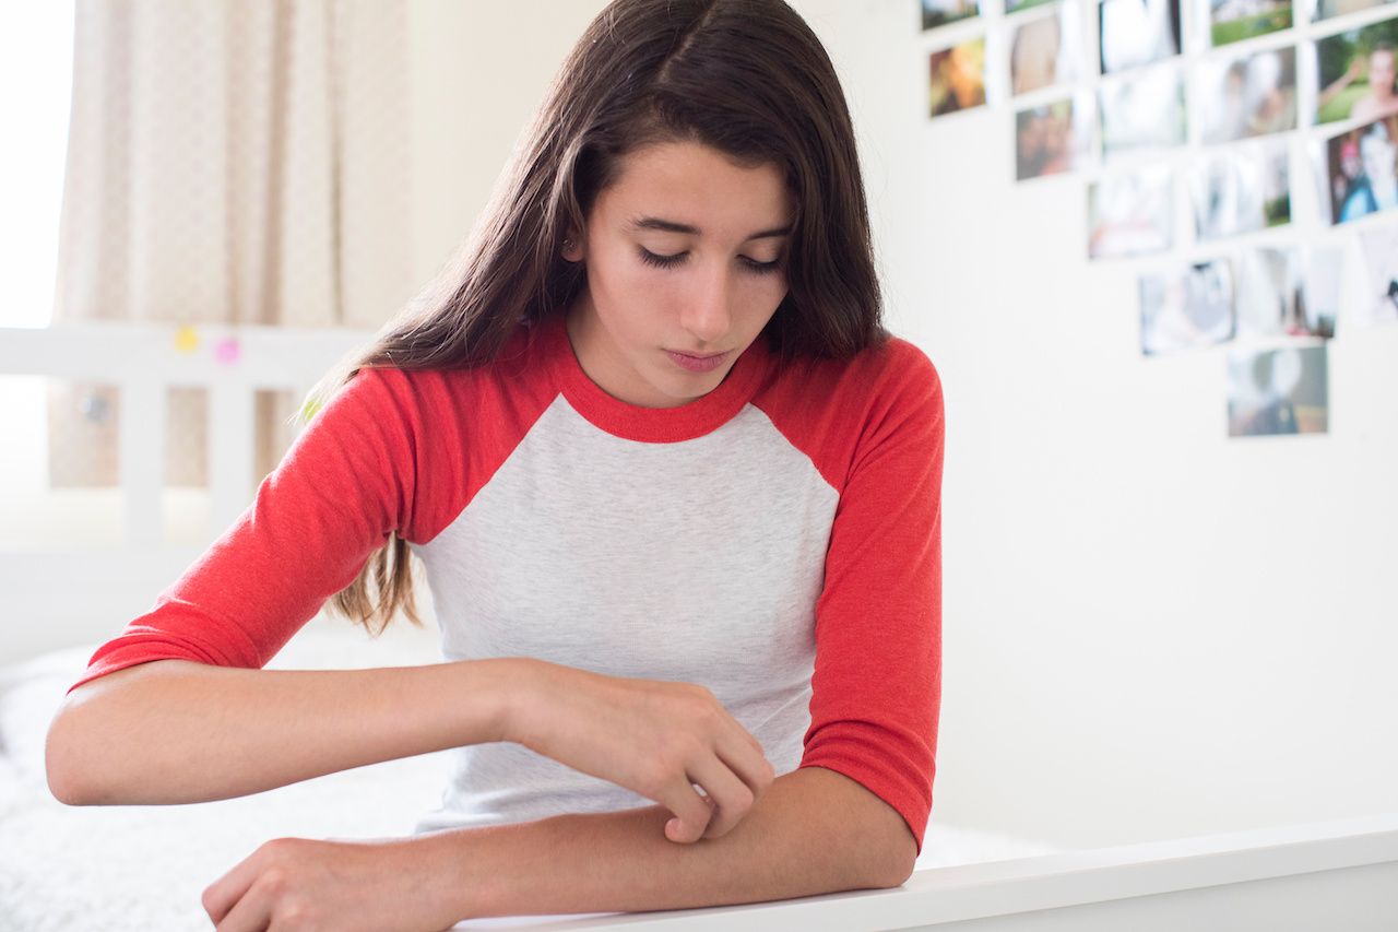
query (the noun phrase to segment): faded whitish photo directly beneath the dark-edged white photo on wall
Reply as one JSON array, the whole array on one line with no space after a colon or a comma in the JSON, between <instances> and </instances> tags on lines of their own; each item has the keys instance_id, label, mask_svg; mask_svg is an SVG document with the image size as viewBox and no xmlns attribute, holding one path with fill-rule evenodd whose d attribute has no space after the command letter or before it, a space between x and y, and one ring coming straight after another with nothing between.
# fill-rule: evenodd
<instances>
[{"instance_id":1,"label":"faded whitish photo directly beneath the dark-edged white photo on wall","mask_svg":"<svg viewBox=\"0 0 1398 932\"><path fill-rule=\"evenodd\" d=\"M1103 81L1097 104L1103 160L1184 144L1184 83L1173 63Z\"/></svg>"}]
</instances>

